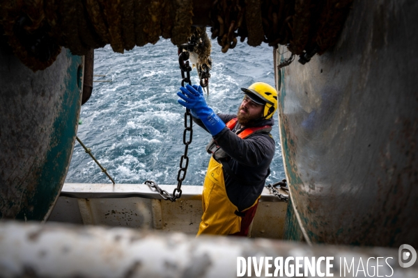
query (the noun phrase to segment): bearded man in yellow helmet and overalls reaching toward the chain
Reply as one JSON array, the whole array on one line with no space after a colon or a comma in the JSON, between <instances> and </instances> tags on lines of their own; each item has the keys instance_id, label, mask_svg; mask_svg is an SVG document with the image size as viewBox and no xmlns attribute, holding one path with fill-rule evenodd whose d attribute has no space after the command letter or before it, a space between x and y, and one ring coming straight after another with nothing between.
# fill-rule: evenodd
<instances>
[{"instance_id":1,"label":"bearded man in yellow helmet and overalls reaching toward the chain","mask_svg":"<svg viewBox=\"0 0 418 278\"><path fill-rule=\"evenodd\" d=\"M247 236L258 200L270 174L274 140L270 134L277 109L277 92L267 83L241 88L244 99L237 115L215 114L198 85L177 92L178 103L189 108L194 122L212 140L203 183L203 215L197 235Z\"/></svg>"}]
</instances>

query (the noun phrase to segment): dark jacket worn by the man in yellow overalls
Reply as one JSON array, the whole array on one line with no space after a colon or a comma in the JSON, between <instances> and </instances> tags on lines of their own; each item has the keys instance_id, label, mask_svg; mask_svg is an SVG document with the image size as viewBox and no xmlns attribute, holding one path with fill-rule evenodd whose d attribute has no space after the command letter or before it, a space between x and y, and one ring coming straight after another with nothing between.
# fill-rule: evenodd
<instances>
[{"instance_id":1,"label":"dark jacket worn by the man in yellow overalls","mask_svg":"<svg viewBox=\"0 0 418 278\"><path fill-rule=\"evenodd\" d=\"M227 114L218 114L218 116L225 123L236 117L236 115ZM206 129L201 120L195 118L193 120L203 129ZM246 128L265 125L272 126L273 124L274 120L270 118L269 120L261 120L251 126L246 126ZM217 159L217 152L213 156L217 161L226 161L235 173L235 177L240 179L234 179L224 170L226 194L231 202L238 207L238 210L242 211L254 204L263 191L265 179L270 174L270 163L274 156L275 143L270 133L253 133L247 138L241 139L237 135L241 132L239 129L240 124L237 123L232 131L225 127L216 136L213 136L217 145L229 157ZM235 133L237 130L238 133Z\"/></svg>"}]
</instances>

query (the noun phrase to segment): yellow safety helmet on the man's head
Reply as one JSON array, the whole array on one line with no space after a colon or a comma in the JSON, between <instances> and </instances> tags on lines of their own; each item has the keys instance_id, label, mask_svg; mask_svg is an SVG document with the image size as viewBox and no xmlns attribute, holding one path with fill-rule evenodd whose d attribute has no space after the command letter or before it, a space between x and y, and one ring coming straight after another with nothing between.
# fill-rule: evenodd
<instances>
[{"instance_id":1,"label":"yellow safety helmet on the man's head","mask_svg":"<svg viewBox=\"0 0 418 278\"><path fill-rule=\"evenodd\" d=\"M271 85L264 82L252 83L249 88L241 88L256 104L263 104L263 117L270 119L277 109L277 91Z\"/></svg>"}]
</instances>

